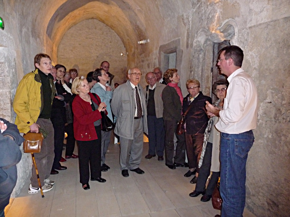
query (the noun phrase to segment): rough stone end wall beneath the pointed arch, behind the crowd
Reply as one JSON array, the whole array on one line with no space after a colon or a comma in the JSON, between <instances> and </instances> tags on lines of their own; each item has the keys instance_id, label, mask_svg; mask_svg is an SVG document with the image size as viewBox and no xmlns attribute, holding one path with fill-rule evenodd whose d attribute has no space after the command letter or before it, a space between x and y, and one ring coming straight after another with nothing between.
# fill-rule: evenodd
<instances>
[{"instance_id":1,"label":"rough stone end wall beneath the pointed arch, behind the crowd","mask_svg":"<svg viewBox=\"0 0 290 217\"><path fill-rule=\"evenodd\" d=\"M109 72L115 75L114 82L126 82L127 55L119 36L106 24L97 19L87 19L71 27L59 44L57 63L67 69L79 69L79 75L86 76L100 67L100 63L110 63Z\"/></svg>"}]
</instances>

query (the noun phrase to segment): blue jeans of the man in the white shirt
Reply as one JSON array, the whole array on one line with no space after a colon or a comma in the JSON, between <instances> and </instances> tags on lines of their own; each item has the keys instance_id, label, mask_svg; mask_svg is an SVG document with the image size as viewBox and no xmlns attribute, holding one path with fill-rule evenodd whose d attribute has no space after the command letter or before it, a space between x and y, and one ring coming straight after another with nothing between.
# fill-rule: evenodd
<instances>
[{"instance_id":1,"label":"blue jeans of the man in the white shirt","mask_svg":"<svg viewBox=\"0 0 290 217\"><path fill-rule=\"evenodd\" d=\"M246 163L254 142L253 131L221 134L220 195L222 217L242 217L246 201Z\"/></svg>"}]
</instances>

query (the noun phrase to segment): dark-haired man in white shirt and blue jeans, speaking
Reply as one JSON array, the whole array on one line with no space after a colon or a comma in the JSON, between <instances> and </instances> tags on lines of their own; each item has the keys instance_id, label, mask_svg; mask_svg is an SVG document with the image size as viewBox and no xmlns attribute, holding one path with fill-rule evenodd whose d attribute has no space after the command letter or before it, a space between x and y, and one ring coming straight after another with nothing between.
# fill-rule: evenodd
<instances>
[{"instance_id":1,"label":"dark-haired man in white shirt and blue jeans, speaking","mask_svg":"<svg viewBox=\"0 0 290 217\"><path fill-rule=\"evenodd\" d=\"M244 54L240 47L231 45L220 50L218 66L228 76L229 87L223 110L208 102L211 117L219 116L215 127L222 132L220 142L221 216L241 217L246 200L246 163L254 142L253 129L257 125L258 96L253 79L242 69ZM216 215L220 216L220 215Z\"/></svg>"}]
</instances>

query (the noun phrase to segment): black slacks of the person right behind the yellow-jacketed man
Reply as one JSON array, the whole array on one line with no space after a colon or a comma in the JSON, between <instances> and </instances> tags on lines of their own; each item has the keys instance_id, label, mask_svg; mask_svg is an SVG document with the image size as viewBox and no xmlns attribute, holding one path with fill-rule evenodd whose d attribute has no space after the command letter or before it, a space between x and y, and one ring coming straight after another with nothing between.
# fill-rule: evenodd
<instances>
[{"instance_id":1,"label":"black slacks of the person right behind the yellow-jacketed man","mask_svg":"<svg viewBox=\"0 0 290 217\"><path fill-rule=\"evenodd\" d=\"M53 160L52 169L55 170L61 166L59 161L61 159L62 148L64 146L64 124L56 125L52 123L52 125L55 132L54 135L55 157Z\"/></svg>"}]
</instances>

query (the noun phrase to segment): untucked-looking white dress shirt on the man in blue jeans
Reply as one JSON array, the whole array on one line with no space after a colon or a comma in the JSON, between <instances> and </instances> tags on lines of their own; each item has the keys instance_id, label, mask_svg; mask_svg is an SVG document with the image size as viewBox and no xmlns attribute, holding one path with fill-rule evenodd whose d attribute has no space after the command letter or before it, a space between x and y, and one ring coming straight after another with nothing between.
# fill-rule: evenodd
<instances>
[{"instance_id":1,"label":"untucked-looking white dress shirt on the man in blue jeans","mask_svg":"<svg viewBox=\"0 0 290 217\"><path fill-rule=\"evenodd\" d=\"M243 133L257 126L258 95L255 83L244 69L234 71L228 78L229 87L223 110L215 127L229 134Z\"/></svg>"}]
</instances>

